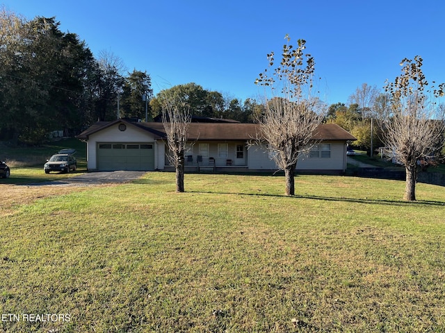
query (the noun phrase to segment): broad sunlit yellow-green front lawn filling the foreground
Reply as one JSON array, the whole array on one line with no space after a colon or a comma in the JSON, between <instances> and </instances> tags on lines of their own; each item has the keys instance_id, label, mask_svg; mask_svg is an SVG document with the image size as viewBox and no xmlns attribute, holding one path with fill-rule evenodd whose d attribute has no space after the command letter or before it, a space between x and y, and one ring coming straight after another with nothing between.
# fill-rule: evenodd
<instances>
[{"instance_id":1,"label":"broad sunlit yellow-green front lawn filling the foreground","mask_svg":"<svg viewBox=\"0 0 445 333\"><path fill-rule=\"evenodd\" d=\"M174 177L0 204L0 330L445 331L443 187Z\"/></svg>"}]
</instances>

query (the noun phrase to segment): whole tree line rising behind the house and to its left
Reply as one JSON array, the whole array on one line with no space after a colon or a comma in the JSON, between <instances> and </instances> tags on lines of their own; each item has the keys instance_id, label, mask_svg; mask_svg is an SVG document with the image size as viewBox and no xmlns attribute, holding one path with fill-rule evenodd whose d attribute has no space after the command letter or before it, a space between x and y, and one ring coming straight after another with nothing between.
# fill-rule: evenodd
<instances>
[{"instance_id":1,"label":"whole tree line rising behind the house and to its left","mask_svg":"<svg viewBox=\"0 0 445 333\"><path fill-rule=\"evenodd\" d=\"M95 121L150 121L169 94L181 95L202 117L248 122L261 112L254 99L243 102L195 83L154 97L147 71L126 72L111 52L93 56L78 35L60 31L55 17L29 20L0 8L0 139L41 144L53 130L75 135Z\"/></svg>"}]
</instances>

